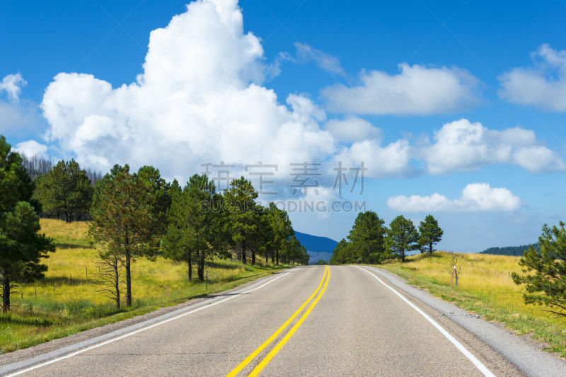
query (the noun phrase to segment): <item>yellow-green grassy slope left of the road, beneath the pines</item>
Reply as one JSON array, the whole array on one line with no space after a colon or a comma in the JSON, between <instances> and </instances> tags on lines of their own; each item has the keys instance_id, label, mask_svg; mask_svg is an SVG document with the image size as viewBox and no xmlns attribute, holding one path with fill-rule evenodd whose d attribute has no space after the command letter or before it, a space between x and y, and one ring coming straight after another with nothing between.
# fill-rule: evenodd
<instances>
[{"instance_id":1,"label":"yellow-green grassy slope left of the road, beneath the pines","mask_svg":"<svg viewBox=\"0 0 566 377\"><path fill-rule=\"evenodd\" d=\"M214 260L209 263L206 289L204 282L187 282L184 264L163 257L154 261L142 258L132 265L134 306L117 311L112 301L98 292L102 285L96 282L96 250L88 238L86 224L42 219L41 226L42 232L54 238L57 250L44 260L49 267L45 279L16 289L17 293L12 295L13 310L0 315L0 352L231 289L282 268Z\"/></svg>"}]
</instances>

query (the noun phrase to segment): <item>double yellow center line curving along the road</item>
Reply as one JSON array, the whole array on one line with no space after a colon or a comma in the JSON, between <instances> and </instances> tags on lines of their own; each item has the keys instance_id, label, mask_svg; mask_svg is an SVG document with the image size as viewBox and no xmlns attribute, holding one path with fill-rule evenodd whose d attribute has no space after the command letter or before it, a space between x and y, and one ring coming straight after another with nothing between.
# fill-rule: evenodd
<instances>
[{"instance_id":1,"label":"double yellow center line curving along the road","mask_svg":"<svg viewBox=\"0 0 566 377\"><path fill-rule=\"evenodd\" d=\"M234 368L230 373L228 373L226 377L236 376L236 374L240 373L242 369L246 368L246 366L250 364L250 362L253 361L253 359L255 359L255 356L258 356L258 354L260 354L260 352L262 352L265 349L265 347L267 347L271 342L273 342L273 340L275 340L275 338L279 336L279 334L281 334L287 328L287 326L289 326L289 324L301 313L301 311L303 311L303 309L308 305L308 303L311 302L314 296L316 296L317 292L320 291L320 287L322 287L322 290L320 291L320 294L318 294L318 297L316 297L313 303L311 303L311 306L308 307L308 309L301 316L301 318L299 318L299 320L296 321L293 327L291 327L291 330L287 332L287 335L285 335L282 340L280 340L277 344L275 344L275 347L273 347L270 353L267 354L267 356L265 356L265 358L260 362L260 364L258 364L258 366L256 366L255 369L253 369L253 371L249 374L249 376L258 376L258 374L262 371L262 369L264 369L265 366L267 366L267 364L271 361L271 359L273 359L273 357L277 354L277 352L279 352L279 350L284 346L284 344L287 343L289 339L291 339L293 334L296 332L296 329L298 329L302 325L302 323L308 317L311 311L313 311L314 306L316 306L316 303L318 303L320 297L323 296L324 291L326 290L326 286L328 286L329 279L330 279L330 267L325 266L323 279L320 280L320 284L318 284L316 291L314 291L313 294L311 294L311 296L307 298L307 300L303 303L303 305L301 305L301 307L297 309L297 311L293 313L293 315L291 315L291 317L287 321L285 321L285 323L281 327L279 327L277 331L275 331L269 338L267 338L267 340L263 342L260 345L260 347L255 349L255 351L252 352L250 356L246 357L246 359L244 359L238 366L236 366L236 368Z\"/></svg>"}]
</instances>

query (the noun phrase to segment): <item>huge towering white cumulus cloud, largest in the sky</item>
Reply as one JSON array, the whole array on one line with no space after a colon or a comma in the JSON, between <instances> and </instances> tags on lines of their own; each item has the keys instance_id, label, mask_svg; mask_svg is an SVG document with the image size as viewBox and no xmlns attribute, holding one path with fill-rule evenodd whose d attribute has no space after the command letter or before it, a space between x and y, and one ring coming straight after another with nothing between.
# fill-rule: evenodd
<instances>
[{"instance_id":1,"label":"huge towering white cumulus cloud, largest in the sky","mask_svg":"<svg viewBox=\"0 0 566 377\"><path fill-rule=\"evenodd\" d=\"M236 0L195 1L151 32L137 82L55 76L42 102L48 137L88 166L153 164L169 177L219 161L278 163L284 173L332 156L325 112L304 95L279 103L261 86L269 69Z\"/></svg>"}]
</instances>

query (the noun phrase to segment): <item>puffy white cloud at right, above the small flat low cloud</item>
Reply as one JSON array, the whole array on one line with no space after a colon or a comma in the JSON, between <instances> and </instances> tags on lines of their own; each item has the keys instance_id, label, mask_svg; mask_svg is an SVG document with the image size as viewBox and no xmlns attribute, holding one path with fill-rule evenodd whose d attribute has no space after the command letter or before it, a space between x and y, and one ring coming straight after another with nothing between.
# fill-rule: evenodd
<instances>
[{"instance_id":1,"label":"puffy white cloud at right, above the small flat low cloud","mask_svg":"<svg viewBox=\"0 0 566 377\"><path fill-rule=\"evenodd\" d=\"M555 152L540 145L536 134L514 127L497 131L466 119L446 123L434 132L434 143L419 151L432 174L475 170L486 165L509 163L531 173L566 170Z\"/></svg>"}]
</instances>

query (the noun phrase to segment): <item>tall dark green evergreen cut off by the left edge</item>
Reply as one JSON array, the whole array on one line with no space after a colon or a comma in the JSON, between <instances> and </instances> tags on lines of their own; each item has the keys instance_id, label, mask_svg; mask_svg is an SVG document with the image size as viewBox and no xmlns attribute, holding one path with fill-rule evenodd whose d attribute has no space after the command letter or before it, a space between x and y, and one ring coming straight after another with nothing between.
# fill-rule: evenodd
<instances>
[{"instance_id":1,"label":"tall dark green evergreen cut off by the left edge","mask_svg":"<svg viewBox=\"0 0 566 377\"><path fill-rule=\"evenodd\" d=\"M10 310L13 284L43 277L40 260L54 245L40 230L37 202L31 199L33 182L21 156L0 135L0 288L2 311Z\"/></svg>"}]
</instances>

